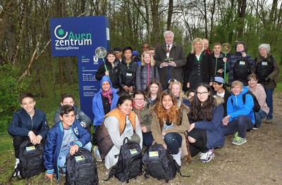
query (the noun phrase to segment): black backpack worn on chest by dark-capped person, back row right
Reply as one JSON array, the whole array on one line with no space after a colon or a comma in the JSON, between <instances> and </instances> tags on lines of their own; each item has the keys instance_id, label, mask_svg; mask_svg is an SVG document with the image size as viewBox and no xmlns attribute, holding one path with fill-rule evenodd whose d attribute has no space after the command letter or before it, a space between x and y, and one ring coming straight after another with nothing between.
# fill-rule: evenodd
<instances>
[{"instance_id":1,"label":"black backpack worn on chest by dark-capped person, back row right","mask_svg":"<svg viewBox=\"0 0 282 185\"><path fill-rule=\"evenodd\" d=\"M250 60L240 59L237 60L233 67L233 79L243 82L247 85L247 76L250 75Z\"/></svg>"}]
</instances>

